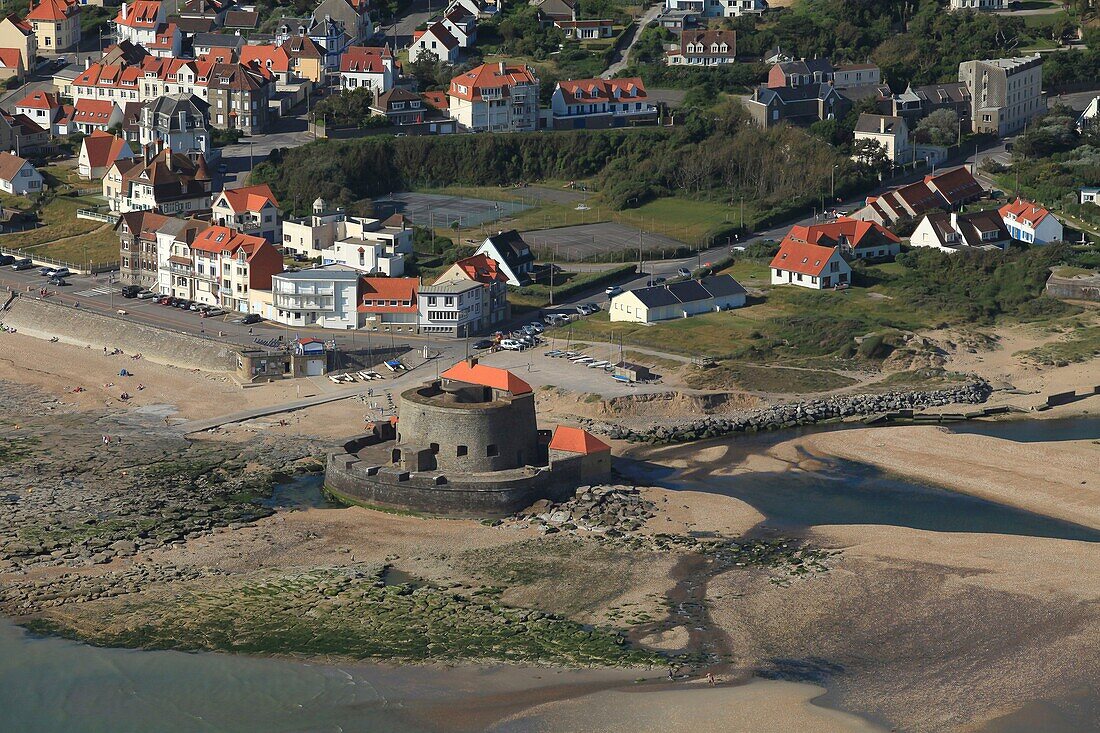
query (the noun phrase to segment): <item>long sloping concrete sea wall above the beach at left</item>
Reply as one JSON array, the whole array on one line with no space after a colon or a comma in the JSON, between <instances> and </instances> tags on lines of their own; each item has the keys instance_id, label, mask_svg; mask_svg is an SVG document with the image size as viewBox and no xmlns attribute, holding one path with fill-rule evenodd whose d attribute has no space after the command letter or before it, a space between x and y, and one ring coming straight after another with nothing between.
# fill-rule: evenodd
<instances>
[{"instance_id":1,"label":"long sloping concrete sea wall above the beach at left","mask_svg":"<svg viewBox=\"0 0 1100 733\"><path fill-rule=\"evenodd\" d=\"M19 332L37 338L57 337L65 343L94 349L122 349L150 361L208 372L237 370L237 352L209 339L140 324L125 316L107 316L21 295L0 316Z\"/></svg>"}]
</instances>

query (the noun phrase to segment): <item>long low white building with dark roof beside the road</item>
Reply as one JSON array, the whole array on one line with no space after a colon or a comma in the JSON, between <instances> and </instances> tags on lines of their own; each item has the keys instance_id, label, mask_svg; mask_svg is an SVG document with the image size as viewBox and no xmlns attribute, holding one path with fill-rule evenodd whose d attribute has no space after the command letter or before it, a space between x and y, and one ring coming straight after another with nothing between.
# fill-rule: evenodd
<instances>
[{"instance_id":1,"label":"long low white building with dark roof beside the road","mask_svg":"<svg viewBox=\"0 0 1100 733\"><path fill-rule=\"evenodd\" d=\"M612 298L608 315L613 321L654 324L740 308L745 298L745 288L729 275L708 275L619 293Z\"/></svg>"}]
</instances>

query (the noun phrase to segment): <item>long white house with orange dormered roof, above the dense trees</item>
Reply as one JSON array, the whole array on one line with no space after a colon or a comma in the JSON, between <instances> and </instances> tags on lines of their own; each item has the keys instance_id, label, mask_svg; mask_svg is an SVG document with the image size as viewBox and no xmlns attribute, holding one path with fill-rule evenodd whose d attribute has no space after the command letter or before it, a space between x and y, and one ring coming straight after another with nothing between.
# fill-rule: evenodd
<instances>
[{"instance_id":1,"label":"long white house with orange dormered roof, above the dense trees","mask_svg":"<svg viewBox=\"0 0 1100 733\"><path fill-rule=\"evenodd\" d=\"M637 77L559 81L550 98L554 130L622 128L654 121L646 85Z\"/></svg>"}]
</instances>

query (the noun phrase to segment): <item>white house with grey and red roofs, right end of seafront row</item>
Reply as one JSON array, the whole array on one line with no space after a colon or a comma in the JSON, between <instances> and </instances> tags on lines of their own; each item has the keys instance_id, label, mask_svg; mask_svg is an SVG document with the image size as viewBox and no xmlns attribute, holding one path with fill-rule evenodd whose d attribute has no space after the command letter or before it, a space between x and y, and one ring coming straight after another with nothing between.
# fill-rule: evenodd
<instances>
[{"instance_id":1,"label":"white house with grey and red roofs, right end of seafront row","mask_svg":"<svg viewBox=\"0 0 1100 733\"><path fill-rule=\"evenodd\" d=\"M509 318L508 280L485 254L459 260L418 293L420 330L465 338Z\"/></svg>"}]
</instances>

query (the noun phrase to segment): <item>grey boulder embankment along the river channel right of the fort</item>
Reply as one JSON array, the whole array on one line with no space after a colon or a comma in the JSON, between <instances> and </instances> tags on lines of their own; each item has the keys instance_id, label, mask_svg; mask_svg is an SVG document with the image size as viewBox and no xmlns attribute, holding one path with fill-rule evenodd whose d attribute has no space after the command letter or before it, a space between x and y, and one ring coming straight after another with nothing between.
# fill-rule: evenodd
<instances>
[{"instance_id":1,"label":"grey boulder embankment along the river channel right of the fort","mask_svg":"<svg viewBox=\"0 0 1100 733\"><path fill-rule=\"evenodd\" d=\"M736 417L711 416L683 425L658 425L646 430L634 430L597 420L581 422L588 430L616 440L652 444L691 442L692 440L718 438L734 433L778 430L845 417L879 415L899 409L924 409L952 404L981 404L989 400L991 393L992 389L987 382L971 382L943 390L839 395L772 405Z\"/></svg>"}]
</instances>

